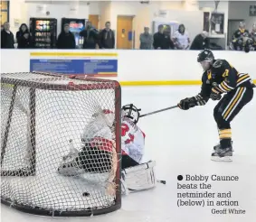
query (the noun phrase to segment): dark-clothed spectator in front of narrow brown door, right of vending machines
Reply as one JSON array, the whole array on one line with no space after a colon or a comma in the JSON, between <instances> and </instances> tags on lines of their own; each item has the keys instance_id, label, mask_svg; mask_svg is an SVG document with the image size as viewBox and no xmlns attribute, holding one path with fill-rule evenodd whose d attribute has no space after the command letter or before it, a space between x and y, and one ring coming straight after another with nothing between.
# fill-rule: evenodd
<instances>
[{"instance_id":1,"label":"dark-clothed spectator in front of narrow brown door, right of vending machines","mask_svg":"<svg viewBox=\"0 0 256 222\"><path fill-rule=\"evenodd\" d=\"M80 32L80 36L83 37L83 49L96 49L99 32L92 27L90 21L86 23L86 28Z\"/></svg>"}]
</instances>

